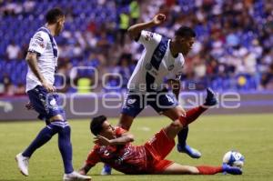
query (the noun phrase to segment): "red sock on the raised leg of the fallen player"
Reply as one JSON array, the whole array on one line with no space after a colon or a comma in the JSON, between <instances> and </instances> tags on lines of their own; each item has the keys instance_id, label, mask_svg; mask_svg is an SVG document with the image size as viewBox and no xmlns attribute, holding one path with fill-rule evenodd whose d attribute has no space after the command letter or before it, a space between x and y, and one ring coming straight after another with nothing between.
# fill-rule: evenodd
<instances>
[{"instance_id":1,"label":"red sock on the raised leg of the fallen player","mask_svg":"<svg viewBox=\"0 0 273 181\"><path fill-rule=\"evenodd\" d=\"M192 108L186 112L186 116L180 116L179 121L183 126L187 126L188 124L192 123L197 119L198 116L200 116L202 113L204 113L207 110L207 108L202 106L197 106L195 108Z\"/></svg>"}]
</instances>

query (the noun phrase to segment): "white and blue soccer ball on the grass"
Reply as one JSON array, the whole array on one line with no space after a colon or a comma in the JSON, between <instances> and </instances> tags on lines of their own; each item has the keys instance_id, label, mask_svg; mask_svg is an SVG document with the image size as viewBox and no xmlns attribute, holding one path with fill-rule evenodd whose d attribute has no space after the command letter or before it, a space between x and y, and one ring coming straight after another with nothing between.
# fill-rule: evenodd
<instances>
[{"instance_id":1,"label":"white and blue soccer ball on the grass","mask_svg":"<svg viewBox=\"0 0 273 181\"><path fill-rule=\"evenodd\" d=\"M245 156L238 151L229 151L223 157L223 163L229 166L243 167L245 162Z\"/></svg>"}]
</instances>

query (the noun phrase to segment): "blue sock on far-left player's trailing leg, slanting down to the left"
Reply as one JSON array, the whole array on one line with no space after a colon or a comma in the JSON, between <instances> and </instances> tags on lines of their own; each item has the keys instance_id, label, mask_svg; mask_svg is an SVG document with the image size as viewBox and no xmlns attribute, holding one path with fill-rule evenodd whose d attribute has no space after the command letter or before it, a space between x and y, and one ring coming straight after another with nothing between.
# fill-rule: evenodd
<instances>
[{"instance_id":1,"label":"blue sock on far-left player's trailing leg, slanting down to the left","mask_svg":"<svg viewBox=\"0 0 273 181\"><path fill-rule=\"evenodd\" d=\"M55 126L49 124L45 126L40 133L35 137L35 140L28 146L25 151L23 152L23 156L30 157L35 152L35 150L48 142L52 136L57 133L57 129Z\"/></svg>"}]
</instances>

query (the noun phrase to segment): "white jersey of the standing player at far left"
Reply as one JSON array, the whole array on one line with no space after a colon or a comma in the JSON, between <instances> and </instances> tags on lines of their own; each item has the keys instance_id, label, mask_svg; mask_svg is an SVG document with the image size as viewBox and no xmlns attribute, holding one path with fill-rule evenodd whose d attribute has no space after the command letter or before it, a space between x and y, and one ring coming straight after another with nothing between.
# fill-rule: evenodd
<instances>
[{"instance_id":1,"label":"white jersey of the standing player at far left","mask_svg":"<svg viewBox=\"0 0 273 181\"><path fill-rule=\"evenodd\" d=\"M49 84L54 85L57 65L57 46L54 37L47 28L41 27L38 29L30 40L28 52L35 52L37 54L37 65L40 73ZM35 88L36 85L42 84L28 66L25 91L27 92Z\"/></svg>"}]
</instances>

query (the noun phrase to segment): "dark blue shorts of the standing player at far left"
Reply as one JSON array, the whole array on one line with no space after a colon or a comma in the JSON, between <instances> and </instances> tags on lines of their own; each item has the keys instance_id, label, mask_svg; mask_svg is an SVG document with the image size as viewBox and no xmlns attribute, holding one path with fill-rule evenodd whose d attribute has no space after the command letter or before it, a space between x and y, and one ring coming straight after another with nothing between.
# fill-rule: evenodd
<instances>
[{"instance_id":1,"label":"dark blue shorts of the standing player at far left","mask_svg":"<svg viewBox=\"0 0 273 181\"><path fill-rule=\"evenodd\" d=\"M36 85L34 89L27 91L30 103L39 113L38 118L46 122L53 116L61 115L66 120L64 109L59 106L59 98L56 94L48 93L44 86Z\"/></svg>"}]
</instances>

